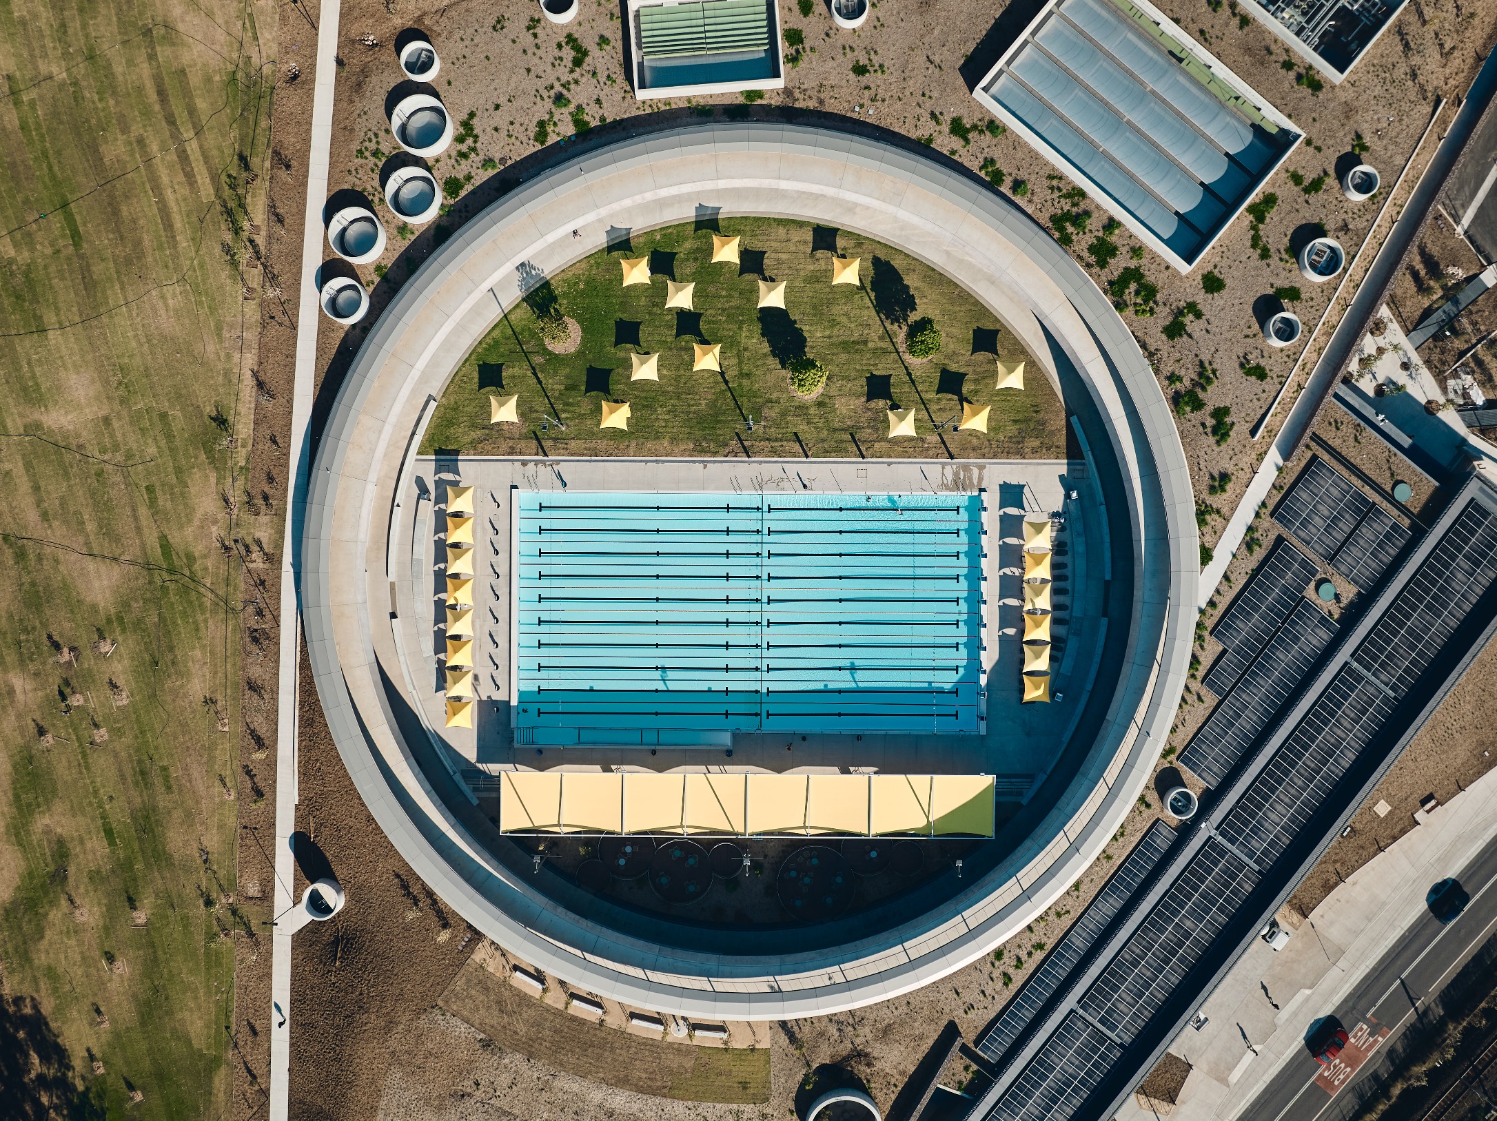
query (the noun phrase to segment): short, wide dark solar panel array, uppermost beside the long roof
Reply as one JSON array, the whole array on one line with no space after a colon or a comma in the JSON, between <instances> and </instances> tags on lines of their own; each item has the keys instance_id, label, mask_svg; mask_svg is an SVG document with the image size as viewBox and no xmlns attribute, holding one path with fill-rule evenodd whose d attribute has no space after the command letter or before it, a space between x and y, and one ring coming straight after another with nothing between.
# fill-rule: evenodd
<instances>
[{"instance_id":1,"label":"short, wide dark solar panel array, uppermost beside the long roof","mask_svg":"<svg viewBox=\"0 0 1497 1121\"><path fill-rule=\"evenodd\" d=\"M1310 459L1274 519L1359 588L1382 579L1410 533L1325 459Z\"/></svg>"}]
</instances>

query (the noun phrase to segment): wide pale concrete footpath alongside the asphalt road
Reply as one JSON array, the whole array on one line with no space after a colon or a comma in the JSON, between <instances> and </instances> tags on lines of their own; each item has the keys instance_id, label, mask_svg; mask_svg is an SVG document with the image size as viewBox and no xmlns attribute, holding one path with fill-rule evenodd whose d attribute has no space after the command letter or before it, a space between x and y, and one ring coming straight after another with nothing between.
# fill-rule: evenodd
<instances>
[{"instance_id":1,"label":"wide pale concrete footpath alongside the asphalt road","mask_svg":"<svg viewBox=\"0 0 1497 1121\"><path fill-rule=\"evenodd\" d=\"M1497 769L1401 837L1311 911L1283 950L1254 940L1205 1000L1207 1024L1169 1051L1192 1066L1169 1121L1232 1121L1304 1052L1304 1033L1340 1006L1362 976L1427 913L1430 885L1497 837ZM1154 1118L1138 1099L1120 1121Z\"/></svg>"}]
</instances>

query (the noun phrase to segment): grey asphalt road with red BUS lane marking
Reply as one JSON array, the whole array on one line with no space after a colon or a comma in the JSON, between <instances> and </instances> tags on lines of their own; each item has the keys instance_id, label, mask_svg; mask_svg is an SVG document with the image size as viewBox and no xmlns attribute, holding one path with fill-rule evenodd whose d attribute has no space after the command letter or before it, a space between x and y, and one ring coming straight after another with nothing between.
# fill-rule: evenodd
<instances>
[{"instance_id":1,"label":"grey asphalt road with red BUS lane marking","mask_svg":"<svg viewBox=\"0 0 1497 1121\"><path fill-rule=\"evenodd\" d=\"M1439 992L1497 932L1497 840L1464 868L1451 868L1448 874L1470 892L1470 905L1449 926L1421 910L1403 943L1377 962L1340 1007L1307 1009L1302 1028L1335 1015L1350 1045L1331 1067L1322 1067L1302 1049L1244 1111L1246 1121L1340 1121L1355 1114L1356 1099L1346 1088L1377 1066L1367 1060L1425 1015L1425 998ZM1314 932L1305 925L1296 937L1313 938Z\"/></svg>"}]
</instances>

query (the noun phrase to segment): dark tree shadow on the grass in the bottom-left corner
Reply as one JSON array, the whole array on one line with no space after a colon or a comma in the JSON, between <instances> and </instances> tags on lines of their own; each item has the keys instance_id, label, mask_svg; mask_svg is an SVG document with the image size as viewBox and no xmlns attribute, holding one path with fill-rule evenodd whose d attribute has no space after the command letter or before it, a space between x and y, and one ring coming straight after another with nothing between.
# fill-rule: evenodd
<instances>
[{"instance_id":1,"label":"dark tree shadow on the grass in the bottom-left corner","mask_svg":"<svg viewBox=\"0 0 1497 1121\"><path fill-rule=\"evenodd\" d=\"M72 1055L36 997L0 997L0 1117L7 1121L105 1117L102 1093L90 1093L79 1084Z\"/></svg>"}]
</instances>

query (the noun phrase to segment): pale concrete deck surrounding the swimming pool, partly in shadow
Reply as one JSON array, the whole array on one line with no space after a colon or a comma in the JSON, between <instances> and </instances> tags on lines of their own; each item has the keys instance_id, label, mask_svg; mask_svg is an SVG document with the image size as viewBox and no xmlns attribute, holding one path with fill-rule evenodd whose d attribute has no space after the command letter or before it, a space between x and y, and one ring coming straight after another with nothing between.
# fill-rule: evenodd
<instances>
[{"instance_id":1,"label":"pale concrete deck surrounding the swimming pool, partly in shadow","mask_svg":"<svg viewBox=\"0 0 1497 1121\"><path fill-rule=\"evenodd\" d=\"M475 729L443 727L439 657L445 651L445 578L439 564L445 521L445 483L475 486L479 555L475 620L481 654L475 681ZM518 491L641 492L823 492L940 494L988 492L990 648L987 735L834 735L735 733L734 754L722 748L536 747L515 745L510 730L513 688L510 651L512 488ZM1076 491L1079 500L1069 500ZM916 774L994 774L1006 796L1019 801L1048 772L1070 733L1100 657L1105 572L1088 563L1088 542L1102 536L1100 501L1084 461L922 461L922 459L519 459L418 456L401 494L413 516L401 519L404 540L392 549L397 633L406 651L409 688L428 729L445 745L455 774L513 769L651 771L882 771ZM1022 519L1063 512L1055 536L1052 693L1048 705L1019 703L1022 636ZM1096 557L1097 549L1090 549Z\"/></svg>"}]
</instances>

